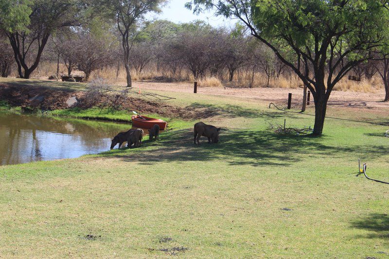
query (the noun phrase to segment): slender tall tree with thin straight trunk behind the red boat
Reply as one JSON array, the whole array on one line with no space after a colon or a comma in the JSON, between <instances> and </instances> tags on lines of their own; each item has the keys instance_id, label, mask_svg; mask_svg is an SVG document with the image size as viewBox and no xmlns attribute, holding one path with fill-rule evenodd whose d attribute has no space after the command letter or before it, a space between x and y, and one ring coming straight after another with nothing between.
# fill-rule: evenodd
<instances>
[{"instance_id":1,"label":"slender tall tree with thin straight trunk behind the red boat","mask_svg":"<svg viewBox=\"0 0 389 259\"><path fill-rule=\"evenodd\" d=\"M159 12L159 5L165 0L103 0L103 2L104 6L112 11L122 37L127 87L131 87L130 51L134 37L139 35L137 27L147 13Z\"/></svg>"}]
</instances>

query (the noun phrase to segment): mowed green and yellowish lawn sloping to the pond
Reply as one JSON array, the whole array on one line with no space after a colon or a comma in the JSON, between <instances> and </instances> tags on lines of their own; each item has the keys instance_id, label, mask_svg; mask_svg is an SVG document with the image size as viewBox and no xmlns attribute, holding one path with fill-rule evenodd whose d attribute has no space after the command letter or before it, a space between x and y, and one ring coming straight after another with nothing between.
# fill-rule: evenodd
<instances>
[{"instance_id":1,"label":"mowed green and yellowish lawn sloping to the pond","mask_svg":"<svg viewBox=\"0 0 389 259\"><path fill-rule=\"evenodd\" d=\"M389 185L356 177L361 158L389 181L388 126L358 122L387 118L330 107L344 120L327 118L324 136L282 136L266 121L314 118L179 95L213 111L203 121L222 127L219 143L194 145L193 121L173 121L138 149L0 167L0 256L389 256Z\"/></svg>"}]
</instances>

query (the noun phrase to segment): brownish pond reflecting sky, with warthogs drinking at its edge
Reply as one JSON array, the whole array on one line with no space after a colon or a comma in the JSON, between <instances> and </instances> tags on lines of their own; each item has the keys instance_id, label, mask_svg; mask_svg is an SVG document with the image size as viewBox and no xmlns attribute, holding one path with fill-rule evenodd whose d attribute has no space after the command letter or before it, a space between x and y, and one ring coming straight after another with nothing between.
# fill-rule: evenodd
<instances>
[{"instance_id":1,"label":"brownish pond reflecting sky, with warthogs drinking at its edge","mask_svg":"<svg viewBox=\"0 0 389 259\"><path fill-rule=\"evenodd\" d=\"M0 165L108 151L111 139L129 128L125 123L0 113Z\"/></svg>"}]
</instances>

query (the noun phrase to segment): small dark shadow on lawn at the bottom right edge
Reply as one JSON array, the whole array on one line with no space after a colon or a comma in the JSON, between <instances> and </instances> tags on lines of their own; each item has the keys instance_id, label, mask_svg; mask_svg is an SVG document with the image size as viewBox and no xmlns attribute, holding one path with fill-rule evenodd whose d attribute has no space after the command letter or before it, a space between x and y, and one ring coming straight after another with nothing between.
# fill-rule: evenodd
<instances>
[{"instance_id":1,"label":"small dark shadow on lawn at the bottom right edge","mask_svg":"<svg viewBox=\"0 0 389 259\"><path fill-rule=\"evenodd\" d=\"M388 214L371 213L364 219L352 222L351 227L371 231L362 238L387 239L389 242L389 216Z\"/></svg>"}]
</instances>

